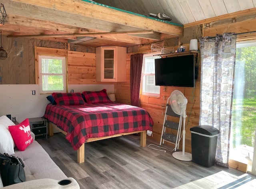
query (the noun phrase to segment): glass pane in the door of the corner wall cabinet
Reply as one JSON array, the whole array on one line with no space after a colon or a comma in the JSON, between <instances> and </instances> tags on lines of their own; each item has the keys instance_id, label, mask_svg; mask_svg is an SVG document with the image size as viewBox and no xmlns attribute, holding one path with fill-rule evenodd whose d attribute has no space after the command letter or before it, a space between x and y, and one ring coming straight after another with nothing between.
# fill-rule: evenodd
<instances>
[{"instance_id":1,"label":"glass pane in the door of the corner wall cabinet","mask_svg":"<svg viewBox=\"0 0 256 189\"><path fill-rule=\"evenodd\" d=\"M114 79L114 50L104 50L104 79Z\"/></svg>"}]
</instances>

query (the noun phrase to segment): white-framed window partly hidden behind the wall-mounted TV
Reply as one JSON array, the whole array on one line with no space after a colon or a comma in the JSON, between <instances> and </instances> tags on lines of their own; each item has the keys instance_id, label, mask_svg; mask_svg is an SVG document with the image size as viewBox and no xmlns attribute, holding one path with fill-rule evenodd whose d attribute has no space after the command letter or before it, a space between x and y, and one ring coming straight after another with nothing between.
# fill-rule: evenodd
<instances>
[{"instance_id":1,"label":"white-framed window partly hidden behind the wall-mounted TV","mask_svg":"<svg viewBox=\"0 0 256 189\"><path fill-rule=\"evenodd\" d=\"M159 96L160 86L155 83L155 59L160 56L146 54L143 56L141 87L142 95Z\"/></svg>"}]
</instances>

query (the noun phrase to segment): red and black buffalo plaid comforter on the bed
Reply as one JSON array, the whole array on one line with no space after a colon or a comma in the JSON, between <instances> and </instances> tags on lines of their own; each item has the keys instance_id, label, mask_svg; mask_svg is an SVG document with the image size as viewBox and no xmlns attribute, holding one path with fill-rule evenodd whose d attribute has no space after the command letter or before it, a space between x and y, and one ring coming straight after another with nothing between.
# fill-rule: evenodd
<instances>
[{"instance_id":1,"label":"red and black buffalo plaid comforter on the bed","mask_svg":"<svg viewBox=\"0 0 256 189\"><path fill-rule=\"evenodd\" d=\"M153 120L140 107L120 103L46 106L44 117L67 132L77 150L88 138L132 131L152 131Z\"/></svg>"}]
</instances>

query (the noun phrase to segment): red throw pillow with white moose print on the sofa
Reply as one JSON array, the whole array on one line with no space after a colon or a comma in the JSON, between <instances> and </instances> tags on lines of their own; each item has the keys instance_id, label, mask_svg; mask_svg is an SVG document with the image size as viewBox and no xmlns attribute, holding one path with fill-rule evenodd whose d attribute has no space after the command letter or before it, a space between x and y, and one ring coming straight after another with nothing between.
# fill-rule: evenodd
<instances>
[{"instance_id":1,"label":"red throw pillow with white moose print on the sofa","mask_svg":"<svg viewBox=\"0 0 256 189\"><path fill-rule=\"evenodd\" d=\"M29 120L25 119L18 125L9 126L15 145L18 150L24 151L32 142L33 138L30 134Z\"/></svg>"}]
</instances>

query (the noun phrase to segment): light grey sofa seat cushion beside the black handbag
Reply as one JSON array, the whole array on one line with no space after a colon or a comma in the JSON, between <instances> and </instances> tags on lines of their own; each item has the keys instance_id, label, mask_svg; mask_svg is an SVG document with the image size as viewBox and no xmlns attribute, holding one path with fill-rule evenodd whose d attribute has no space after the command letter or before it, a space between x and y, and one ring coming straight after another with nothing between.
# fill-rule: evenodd
<instances>
[{"instance_id":1,"label":"light grey sofa seat cushion beside the black handbag","mask_svg":"<svg viewBox=\"0 0 256 189\"><path fill-rule=\"evenodd\" d=\"M25 165L26 181L34 179L61 180L67 178L37 141L33 141L25 151L15 149L14 152L14 155L20 157Z\"/></svg>"}]
</instances>

